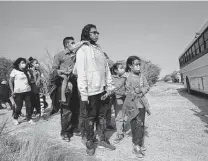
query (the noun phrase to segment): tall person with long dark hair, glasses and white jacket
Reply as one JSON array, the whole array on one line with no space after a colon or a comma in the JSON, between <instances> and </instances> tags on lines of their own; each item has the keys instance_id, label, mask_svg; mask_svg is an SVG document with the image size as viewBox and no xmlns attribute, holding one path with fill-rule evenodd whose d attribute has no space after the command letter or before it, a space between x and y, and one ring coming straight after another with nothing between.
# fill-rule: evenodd
<instances>
[{"instance_id":1,"label":"tall person with long dark hair, glasses and white jacket","mask_svg":"<svg viewBox=\"0 0 208 161\"><path fill-rule=\"evenodd\" d=\"M98 145L115 150L105 136L105 99L114 90L114 84L104 52L98 41L99 32L95 25L88 24L82 30L81 41L89 41L76 54L76 72L78 89L81 95L81 113L86 113L84 129L86 131L87 154L95 153L94 123L99 136Z\"/></svg>"}]
</instances>

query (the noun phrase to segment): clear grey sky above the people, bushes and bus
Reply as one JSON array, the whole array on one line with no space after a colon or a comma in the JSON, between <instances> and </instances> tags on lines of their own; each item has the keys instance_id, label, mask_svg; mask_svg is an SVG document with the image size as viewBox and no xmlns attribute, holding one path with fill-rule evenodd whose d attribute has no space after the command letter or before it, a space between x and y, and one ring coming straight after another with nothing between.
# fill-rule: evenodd
<instances>
[{"instance_id":1,"label":"clear grey sky above the people, bushes and bus","mask_svg":"<svg viewBox=\"0 0 208 161\"><path fill-rule=\"evenodd\" d=\"M0 56L47 59L62 40L80 41L87 24L113 60L137 55L162 69L179 69L178 57L208 20L208 2L0 2Z\"/></svg>"}]
</instances>

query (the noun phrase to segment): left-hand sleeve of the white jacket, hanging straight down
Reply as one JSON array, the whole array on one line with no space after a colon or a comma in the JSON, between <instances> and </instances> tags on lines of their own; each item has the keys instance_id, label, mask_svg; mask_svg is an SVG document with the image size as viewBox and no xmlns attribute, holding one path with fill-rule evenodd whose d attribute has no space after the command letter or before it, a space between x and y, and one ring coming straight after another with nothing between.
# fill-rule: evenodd
<instances>
[{"instance_id":1,"label":"left-hand sleeve of the white jacket, hanging straight down","mask_svg":"<svg viewBox=\"0 0 208 161\"><path fill-rule=\"evenodd\" d=\"M77 84L81 94L82 101L88 101L88 88L87 88L87 53L83 48L80 48L76 54L76 72L77 72Z\"/></svg>"}]
</instances>

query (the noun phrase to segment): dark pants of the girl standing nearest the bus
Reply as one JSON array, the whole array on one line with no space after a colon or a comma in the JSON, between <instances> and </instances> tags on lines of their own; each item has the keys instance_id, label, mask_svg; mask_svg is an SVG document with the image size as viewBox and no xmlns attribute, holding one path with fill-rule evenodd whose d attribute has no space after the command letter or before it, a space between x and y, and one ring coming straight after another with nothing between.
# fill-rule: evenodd
<instances>
[{"instance_id":1,"label":"dark pants of the girl standing nearest the bus","mask_svg":"<svg viewBox=\"0 0 208 161\"><path fill-rule=\"evenodd\" d=\"M132 142L134 145L143 146L144 140L145 108L139 108L139 114L130 121Z\"/></svg>"}]
</instances>

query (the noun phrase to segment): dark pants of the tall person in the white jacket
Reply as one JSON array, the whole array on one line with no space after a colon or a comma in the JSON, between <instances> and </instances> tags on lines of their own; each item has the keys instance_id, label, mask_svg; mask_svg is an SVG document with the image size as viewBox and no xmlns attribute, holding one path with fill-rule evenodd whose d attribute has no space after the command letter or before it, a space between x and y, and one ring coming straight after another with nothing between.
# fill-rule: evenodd
<instances>
[{"instance_id":1,"label":"dark pants of the tall person in the white jacket","mask_svg":"<svg viewBox=\"0 0 208 161\"><path fill-rule=\"evenodd\" d=\"M105 106L100 99L102 94L89 96L89 105L87 106L87 119L86 119L86 133L87 133L87 147L92 148L94 140L94 124L96 123L97 133L100 141L104 141L105 138Z\"/></svg>"}]
</instances>

